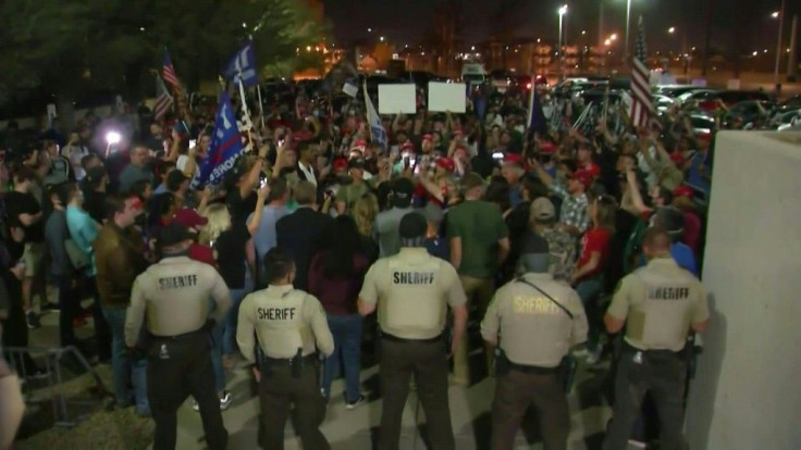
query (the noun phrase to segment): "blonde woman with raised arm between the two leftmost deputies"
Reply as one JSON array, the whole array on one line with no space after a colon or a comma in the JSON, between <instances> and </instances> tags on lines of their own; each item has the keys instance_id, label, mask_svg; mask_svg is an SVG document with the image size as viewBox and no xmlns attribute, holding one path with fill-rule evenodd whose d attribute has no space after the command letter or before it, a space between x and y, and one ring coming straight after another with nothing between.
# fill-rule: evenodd
<instances>
[{"instance_id":1,"label":"blonde woman with raised arm between the two leftmost deputies","mask_svg":"<svg viewBox=\"0 0 801 450\"><path fill-rule=\"evenodd\" d=\"M231 220L231 213L225 204L210 204L206 211L208 223L200 230L200 242L209 245L217 260L218 271L231 290L231 309L225 318L212 330L214 348L211 349L212 365L217 391L220 396L220 408L225 410L231 405L231 395L225 389L225 366L233 365L233 354L236 352L236 317L239 303L254 289L252 271L255 250L251 236L261 222L261 210L264 208L270 188L264 186L257 191L256 211L250 223ZM224 355L224 358L223 358ZM195 411L199 411L195 403Z\"/></svg>"}]
</instances>

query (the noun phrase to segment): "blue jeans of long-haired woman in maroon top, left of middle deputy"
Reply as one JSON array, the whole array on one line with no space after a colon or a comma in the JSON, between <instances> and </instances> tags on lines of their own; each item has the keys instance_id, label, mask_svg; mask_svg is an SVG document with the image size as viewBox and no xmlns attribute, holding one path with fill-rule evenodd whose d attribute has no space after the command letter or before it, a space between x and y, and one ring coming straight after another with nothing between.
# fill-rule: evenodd
<instances>
[{"instance_id":1,"label":"blue jeans of long-haired woman in maroon top, left of middle deputy","mask_svg":"<svg viewBox=\"0 0 801 450\"><path fill-rule=\"evenodd\" d=\"M361 371L361 316L329 315L329 328L334 336L334 353L325 360L322 389L331 397L331 382L340 373L340 364L345 368L345 400L355 402L361 396L359 372Z\"/></svg>"}]
</instances>

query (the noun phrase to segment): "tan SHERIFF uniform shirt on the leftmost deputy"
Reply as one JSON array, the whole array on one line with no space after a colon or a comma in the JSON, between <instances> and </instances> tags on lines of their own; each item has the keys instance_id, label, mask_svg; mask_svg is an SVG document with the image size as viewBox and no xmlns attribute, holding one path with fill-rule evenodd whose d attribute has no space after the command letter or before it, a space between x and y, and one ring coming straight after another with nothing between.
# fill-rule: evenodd
<instances>
[{"instance_id":1,"label":"tan SHERIFF uniform shirt on the leftmost deputy","mask_svg":"<svg viewBox=\"0 0 801 450\"><path fill-rule=\"evenodd\" d=\"M231 293L214 267L187 257L164 258L136 277L125 314L125 343L133 347L147 312L156 336L177 336L200 329L209 317L211 297L220 322L231 308Z\"/></svg>"}]
</instances>

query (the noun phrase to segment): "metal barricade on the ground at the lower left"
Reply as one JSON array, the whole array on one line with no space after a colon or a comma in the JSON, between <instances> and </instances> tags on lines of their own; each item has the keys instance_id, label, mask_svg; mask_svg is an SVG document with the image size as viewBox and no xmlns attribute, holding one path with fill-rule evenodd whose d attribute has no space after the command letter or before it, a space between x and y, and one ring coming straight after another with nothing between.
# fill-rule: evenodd
<instances>
[{"instance_id":1,"label":"metal barricade on the ground at the lower left","mask_svg":"<svg viewBox=\"0 0 801 450\"><path fill-rule=\"evenodd\" d=\"M106 388L102 379L84 358L83 353L74 346L64 348L35 348L35 347L3 347L3 354L11 367L22 382L22 392L28 404L49 398L53 410L54 426L73 427L85 418L81 411L98 411L103 407L103 400L113 395ZM67 360L70 358L71 360ZM64 392L65 379L64 365L70 361L69 367L75 378L89 374L95 385L88 388L90 398L69 398ZM44 367L42 367L44 362ZM34 368L38 367L38 368ZM44 370L44 374L34 371ZM77 370L77 371L76 371ZM37 385L38 379L46 379L47 385ZM79 409L79 407L83 407ZM94 407L94 408L93 408Z\"/></svg>"}]
</instances>

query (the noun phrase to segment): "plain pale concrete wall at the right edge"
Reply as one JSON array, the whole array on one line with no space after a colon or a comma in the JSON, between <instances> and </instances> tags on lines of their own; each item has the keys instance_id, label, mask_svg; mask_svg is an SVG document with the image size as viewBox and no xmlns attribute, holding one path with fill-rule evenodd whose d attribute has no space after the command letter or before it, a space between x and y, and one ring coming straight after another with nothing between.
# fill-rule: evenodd
<instances>
[{"instance_id":1,"label":"plain pale concrete wall at the right edge","mask_svg":"<svg viewBox=\"0 0 801 450\"><path fill-rule=\"evenodd\" d=\"M801 449L801 134L720 133L710 208L690 448Z\"/></svg>"}]
</instances>

